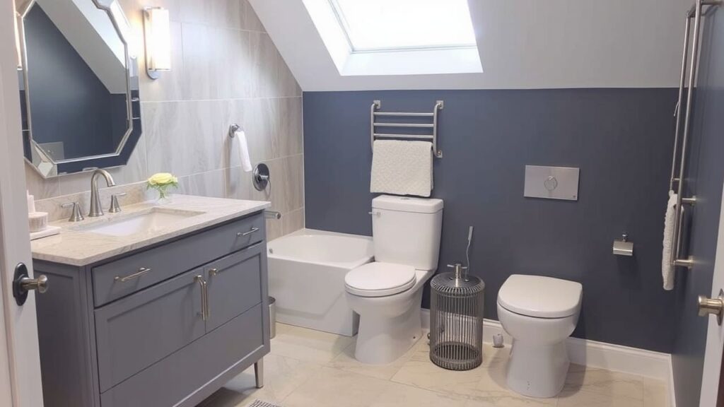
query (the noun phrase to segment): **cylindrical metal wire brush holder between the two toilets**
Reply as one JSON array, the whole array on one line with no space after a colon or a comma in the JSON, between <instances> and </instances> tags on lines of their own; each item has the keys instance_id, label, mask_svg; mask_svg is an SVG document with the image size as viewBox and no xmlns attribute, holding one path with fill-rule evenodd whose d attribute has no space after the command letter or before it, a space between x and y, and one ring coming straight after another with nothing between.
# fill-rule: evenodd
<instances>
[{"instance_id":1,"label":"cylindrical metal wire brush holder between the two toilets","mask_svg":"<svg viewBox=\"0 0 724 407\"><path fill-rule=\"evenodd\" d=\"M444 369L475 369L483 362L485 283L461 263L447 267L454 271L430 283L430 360Z\"/></svg>"}]
</instances>

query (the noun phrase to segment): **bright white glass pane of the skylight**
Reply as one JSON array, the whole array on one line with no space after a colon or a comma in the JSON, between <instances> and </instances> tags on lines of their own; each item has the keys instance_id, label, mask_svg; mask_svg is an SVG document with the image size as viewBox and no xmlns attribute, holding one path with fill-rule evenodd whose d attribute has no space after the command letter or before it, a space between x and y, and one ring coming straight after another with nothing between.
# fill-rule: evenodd
<instances>
[{"instance_id":1,"label":"bright white glass pane of the skylight","mask_svg":"<svg viewBox=\"0 0 724 407\"><path fill-rule=\"evenodd\" d=\"M329 0L353 52L475 46L467 0Z\"/></svg>"}]
</instances>

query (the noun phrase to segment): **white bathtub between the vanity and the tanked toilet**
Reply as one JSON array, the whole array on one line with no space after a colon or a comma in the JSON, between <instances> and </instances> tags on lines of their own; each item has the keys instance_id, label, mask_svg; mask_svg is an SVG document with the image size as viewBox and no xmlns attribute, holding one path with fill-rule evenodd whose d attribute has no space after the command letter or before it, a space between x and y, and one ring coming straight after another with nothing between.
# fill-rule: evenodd
<instances>
[{"instance_id":1,"label":"white bathtub between the vanity and the tanked toilet","mask_svg":"<svg viewBox=\"0 0 724 407\"><path fill-rule=\"evenodd\" d=\"M268 244L269 295L277 322L352 336L359 316L345 298L345 274L372 261L372 238L303 229Z\"/></svg>"}]
</instances>

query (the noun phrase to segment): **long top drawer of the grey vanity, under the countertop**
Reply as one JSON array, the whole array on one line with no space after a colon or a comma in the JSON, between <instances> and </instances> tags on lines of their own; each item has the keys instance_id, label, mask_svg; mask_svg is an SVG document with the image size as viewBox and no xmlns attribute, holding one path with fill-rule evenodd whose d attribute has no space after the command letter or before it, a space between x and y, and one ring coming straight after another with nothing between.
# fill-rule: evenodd
<instances>
[{"instance_id":1,"label":"long top drawer of the grey vanity, under the countertop","mask_svg":"<svg viewBox=\"0 0 724 407\"><path fill-rule=\"evenodd\" d=\"M96 307L199 267L266 237L264 215L255 214L93 267Z\"/></svg>"}]
</instances>

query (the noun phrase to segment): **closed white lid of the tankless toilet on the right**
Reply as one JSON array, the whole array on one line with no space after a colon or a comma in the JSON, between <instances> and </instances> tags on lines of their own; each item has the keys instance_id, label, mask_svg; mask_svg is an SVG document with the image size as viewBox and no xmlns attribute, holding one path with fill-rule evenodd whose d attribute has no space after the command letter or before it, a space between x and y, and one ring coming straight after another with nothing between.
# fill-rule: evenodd
<instances>
[{"instance_id":1,"label":"closed white lid of the tankless toilet on the right","mask_svg":"<svg viewBox=\"0 0 724 407\"><path fill-rule=\"evenodd\" d=\"M583 286L552 277L513 274L498 291L497 302L508 311L539 318L563 318L578 312Z\"/></svg>"}]
</instances>

